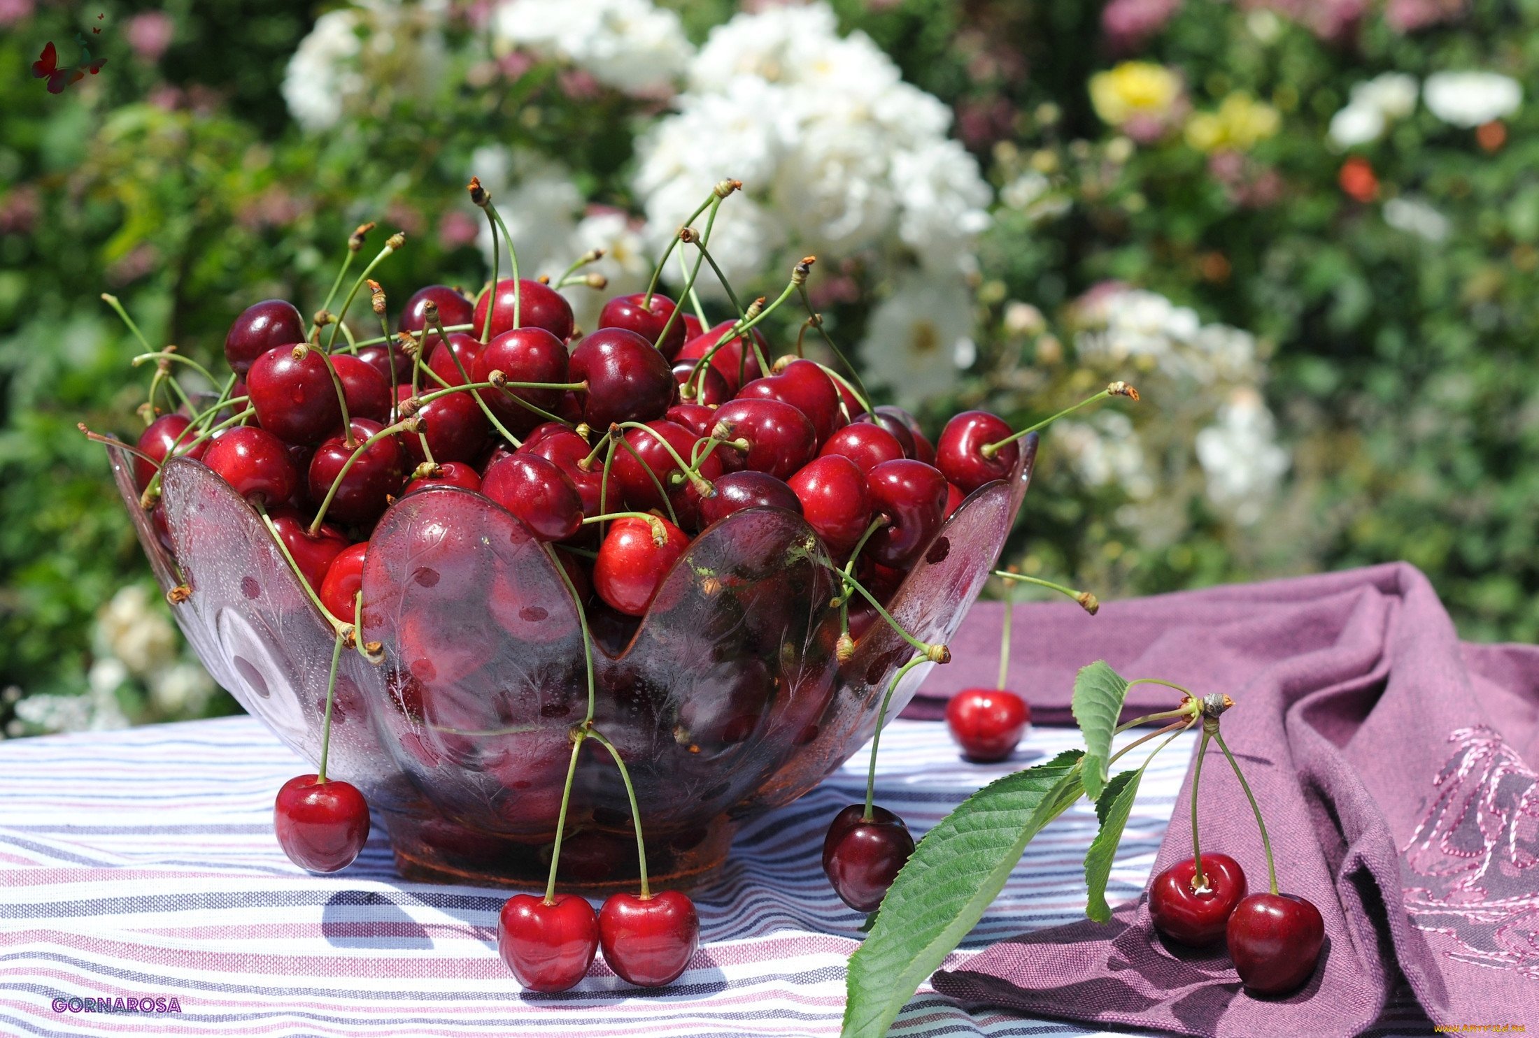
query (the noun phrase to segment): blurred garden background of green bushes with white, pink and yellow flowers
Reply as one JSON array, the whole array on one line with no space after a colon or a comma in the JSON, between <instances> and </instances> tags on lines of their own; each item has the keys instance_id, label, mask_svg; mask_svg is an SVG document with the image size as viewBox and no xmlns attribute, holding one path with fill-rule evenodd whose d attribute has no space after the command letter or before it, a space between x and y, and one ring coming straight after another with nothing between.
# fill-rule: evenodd
<instances>
[{"instance_id":1,"label":"blurred garden background of green bushes with white, pink and yellow flowers","mask_svg":"<svg viewBox=\"0 0 1539 1038\"><path fill-rule=\"evenodd\" d=\"M1142 404L1048 434L1027 571L1114 597L1407 558L1467 637L1533 640L1536 23L1484 0L0 0L5 732L232 709L74 429L135 431L143 392L97 295L211 357L252 300L319 306L363 220L408 234L392 300L477 286L471 174L525 272L603 248L609 291L743 180L711 238L739 297L816 254L830 332L933 432L1134 381ZM51 95L28 66L75 32L108 65ZM591 328L602 294L566 291Z\"/></svg>"}]
</instances>

